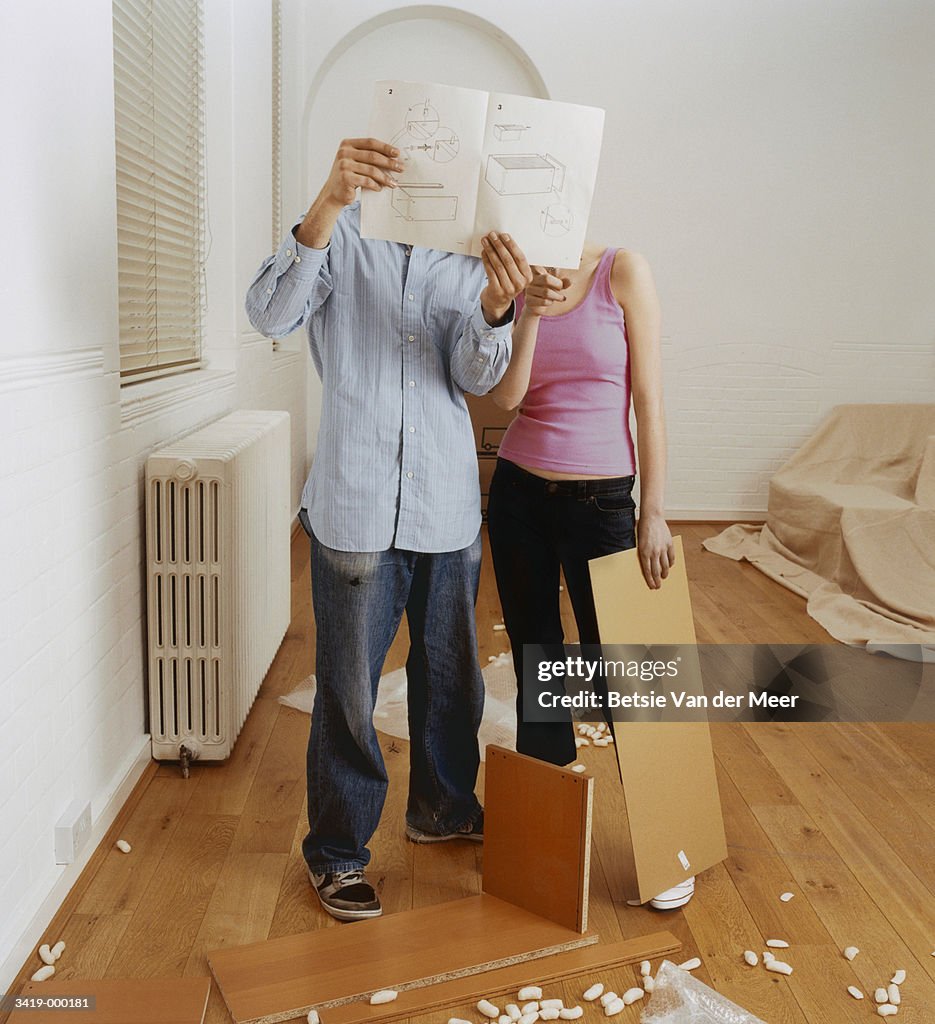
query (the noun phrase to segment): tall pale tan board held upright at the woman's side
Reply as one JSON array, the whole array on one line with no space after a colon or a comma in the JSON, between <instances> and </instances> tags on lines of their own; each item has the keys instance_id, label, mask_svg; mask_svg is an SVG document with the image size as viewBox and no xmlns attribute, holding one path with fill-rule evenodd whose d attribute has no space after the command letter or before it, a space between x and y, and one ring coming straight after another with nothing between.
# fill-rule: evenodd
<instances>
[{"instance_id":1,"label":"tall pale tan board held upright at the woman's side","mask_svg":"<svg viewBox=\"0 0 935 1024\"><path fill-rule=\"evenodd\" d=\"M675 548L675 565L658 590L646 586L636 549L590 562L602 644L695 643L679 537ZM699 673L683 678L700 684ZM706 722L612 727L633 849L627 896L646 902L727 857L711 734Z\"/></svg>"}]
</instances>

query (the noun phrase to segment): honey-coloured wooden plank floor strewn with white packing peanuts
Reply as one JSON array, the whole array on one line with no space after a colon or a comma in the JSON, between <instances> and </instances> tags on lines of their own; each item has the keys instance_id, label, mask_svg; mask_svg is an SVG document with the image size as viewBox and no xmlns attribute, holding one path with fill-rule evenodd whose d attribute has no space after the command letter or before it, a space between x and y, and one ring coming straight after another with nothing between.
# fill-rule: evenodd
<instances>
[{"instance_id":1,"label":"honey-coloured wooden plank floor strewn with white packing peanuts","mask_svg":"<svg viewBox=\"0 0 935 1024\"><path fill-rule=\"evenodd\" d=\"M709 525L683 525L699 642L825 642L801 599L746 564L702 549ZM230 760L154 768L73 890L45 940L68 943L59 978L197 976L221 945L341 927L311 898L300 842L305 833L307 716L278 703L312 670L308 554L293 548L293 620ZM477 608L481 663L503 649L485 555ZM405 629L403 629L405 632ZM568 620L568 635L573 623ZM405 660L396 639L387 670ZM721 725L714 730L729 859L698 881L683 910L657 914L620 896L620 790L612 752L586 748L597 776L591 926L606 940L668 928L698 955L696 976L768 1024L877 1019L874 990L908 974L897 1018L935 1022L935 743L931 726ZM408 745L382 737L389 797L372 844L372 880L387 913L478 891L482 850L418 847L403 837ZM542 822L520 822L529 833ZM119 836L130 855L112 847ZM781 903L785 891L796 894ZM614 898L615 897L615 898ZM353 927L353 926L348 926ZM767 938L792 944L790 978L748 968L745 949ZM860 954L848 964L844 946ZM25 965L20 980L40 966ZM656 967L657 965L653 965ZM535 965L529 981L535 982ZM603 979L618 991L633 969ZM867 998L853 1000L848 985ZM16 991L19 982L12 987ZM561 993L562 986L556 986ZM564 986L566 1001L582 986ZM494 994L494 993L492 993ZM449 1013L420 1019L440 1024ZM472 1008L458 1016L474 1020ZM214 990L207 1020L229 1017ZM584 1024L604 1018L589 1009ZM635 1024L639 1005L615 1018Z\"/></svg>"}]
</instances>

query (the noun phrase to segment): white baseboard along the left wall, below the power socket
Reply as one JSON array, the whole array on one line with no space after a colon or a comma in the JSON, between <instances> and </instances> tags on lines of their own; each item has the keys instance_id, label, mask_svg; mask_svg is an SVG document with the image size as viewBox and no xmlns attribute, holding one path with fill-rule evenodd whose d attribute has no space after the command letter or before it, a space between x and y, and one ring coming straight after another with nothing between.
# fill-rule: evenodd
<instances>
[{"instance_id":1,"label":"white baseboard along the left wall, below the power socket","mask_svg":"<svg viewBox=\"0 0 935 1024\"><path fill-rule=\"evenodd\" d=\"M23 934L14 943L9 955L0 965L0 992L9 991L10 985L12 985L13 980L19 973L19 969L32 955L40 939L43 938L43 933L48 928L52 918L55 916L58 908L65 902L66 896L71 892L72 887L78 881L78 877L87 866L94 851L107 835L108 829L114 824L117 815L133 792L133 786L142 777L146 765L152 761L152 737L150 735L143 736L138 751L132 754L124 762L124 766L115 772L114 778L117 780L116 783L113 784L113 788L112 785L108 785L104 790L105 793L108 790L112 790L111 798L91 825L91 835L88 837L88 841L78 859L74 863L66 864L50 873L49 881L51 887L48 895L42 901L39 909L33 914L32 921L30 921ZM49 937L46 936L46 938ZM55 942L58 938L59 936L56 935L54 938L49 939L49 941ZM40 967L42 967L42 964L37 958L36 970Z\"/></svg>"}]
</instances>

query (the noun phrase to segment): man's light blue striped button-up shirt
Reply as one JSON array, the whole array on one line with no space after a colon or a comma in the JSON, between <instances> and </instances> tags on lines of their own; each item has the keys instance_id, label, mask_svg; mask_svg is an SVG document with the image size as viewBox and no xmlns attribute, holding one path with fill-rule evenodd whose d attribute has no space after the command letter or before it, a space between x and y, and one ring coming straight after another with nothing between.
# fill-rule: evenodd
<instances>
[{"instance_id":1,"label":"man's light blue striped button-up shirt","mask_svg":"<svg viewBox=\"0 0 935 1024\"><path fill-rule=\"evenodd\" d=\"M318 540L341 551L458 551L480 528L464 392L510 359L512 324L480 309L479 259L360 238L359 203L325 249L290 233L247 293L251 324L280 338L305 324L324 385L302 493Z\"/></svg>"}]
</instances>

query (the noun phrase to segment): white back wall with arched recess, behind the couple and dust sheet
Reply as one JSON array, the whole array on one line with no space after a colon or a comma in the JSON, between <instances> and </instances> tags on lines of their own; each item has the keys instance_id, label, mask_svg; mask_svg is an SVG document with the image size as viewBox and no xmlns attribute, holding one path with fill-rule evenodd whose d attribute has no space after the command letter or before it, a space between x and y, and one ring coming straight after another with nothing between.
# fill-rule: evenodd
<instances>
[{"instance_id":1,"label":"white back wall with arched recess, behind the couple and dust sheet","mask_svg":"<svg viewBox=\"0 0 935 1024\"><path fill-rule=\"evenodd\" d=\"M310 135L321 97L344 96L326 150L362 131L377 77L501 87L435 45L464 12L487 23L504 74L516 44L552 98L606 110L591 234L655 270L671 514L764 510L769 476L832 406L933 400L926 0L577 0L560 14L534 0L408 12L290 0L286 12L287 124ZM357 52L372 74L350 73ZM290 216L322 174L316 138L291 144Z\"/></svg>"}]
</instances>

